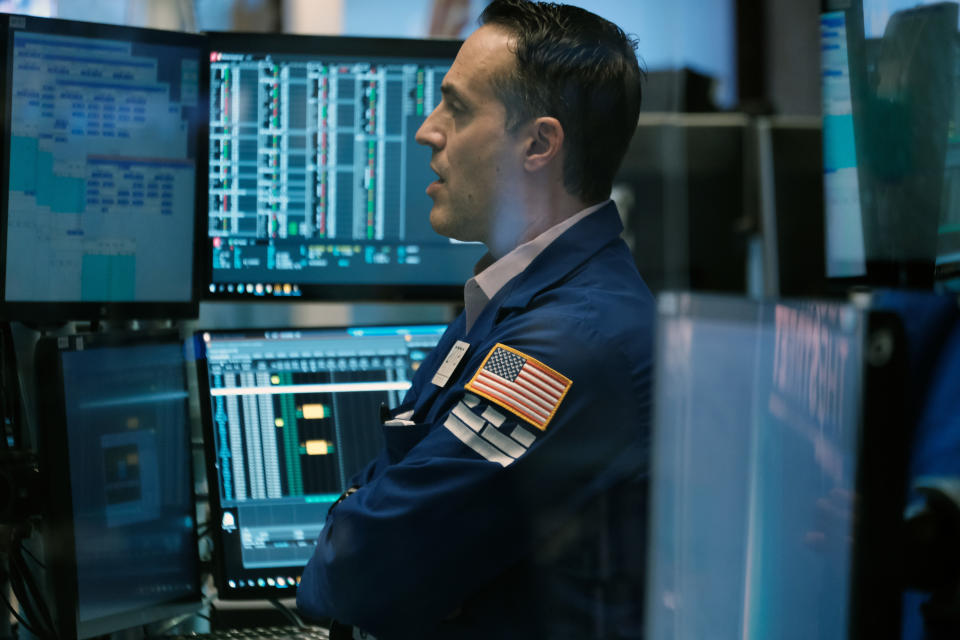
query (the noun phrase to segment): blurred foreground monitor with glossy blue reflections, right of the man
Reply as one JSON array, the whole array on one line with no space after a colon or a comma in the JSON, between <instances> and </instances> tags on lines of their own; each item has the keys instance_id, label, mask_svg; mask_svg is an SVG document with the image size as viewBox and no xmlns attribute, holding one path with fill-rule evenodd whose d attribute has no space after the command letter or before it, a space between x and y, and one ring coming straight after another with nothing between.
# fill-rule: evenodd
<instances>
[{"instance_id":1,"label":"blurred foreground monitor with glossy blue reflections, right of the man","mask_svg":"<svg viewBox=\"0 0 960 640\"><path fill-rule=\"evenodd\" d=\"M892 316L658 301L646 638L899 638Z\"/></svg>"}]
</instances>

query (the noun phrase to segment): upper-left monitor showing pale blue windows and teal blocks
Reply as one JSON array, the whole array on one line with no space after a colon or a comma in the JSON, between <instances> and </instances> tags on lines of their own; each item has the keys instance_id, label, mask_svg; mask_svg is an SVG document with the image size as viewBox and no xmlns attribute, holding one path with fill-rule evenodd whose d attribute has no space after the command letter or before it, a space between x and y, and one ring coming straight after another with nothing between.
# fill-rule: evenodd
<instances>
[{"instance_id":1,"label":"upper-left monitor showing pale blue windows and teal blocks","mask_svg":"<svg viewBox=\"0 0 960 640\"><path fill-rule=\"evenodd\" d=\"M195 317L197 35L0 15L0 317Z\"/></svg>"}]
</instances>

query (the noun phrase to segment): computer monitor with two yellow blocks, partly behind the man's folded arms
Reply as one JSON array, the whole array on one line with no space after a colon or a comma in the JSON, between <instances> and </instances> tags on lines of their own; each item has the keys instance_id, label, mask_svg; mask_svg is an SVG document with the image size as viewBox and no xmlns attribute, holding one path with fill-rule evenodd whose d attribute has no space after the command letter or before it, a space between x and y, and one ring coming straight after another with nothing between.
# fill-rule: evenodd
<instances>
[{"instance_id":1,"label":"computer monitor with two yellow blocks, partly behind the man's folded arms","mask_svg":"<svg viewBox=\"0 0 960 640\"><path fill-rule=\"evenodd\" d=\"M330 505L383 447L381 406L444 330L196 334L220 598L294 595Z\"/></svg>"}]
</instances>

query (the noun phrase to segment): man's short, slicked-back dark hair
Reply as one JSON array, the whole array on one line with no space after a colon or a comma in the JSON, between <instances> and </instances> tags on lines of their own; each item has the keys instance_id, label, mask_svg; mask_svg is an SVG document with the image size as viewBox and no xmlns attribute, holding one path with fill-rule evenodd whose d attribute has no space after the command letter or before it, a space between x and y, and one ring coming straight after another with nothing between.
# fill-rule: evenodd
<instances>
[{"instance_id":1,"label":"man's short, slicked-back dark hair","mask_svg":"<svg viewBox=\"0 0 960 640\"><path fill-rule=\"evenodd\" d=\"M567 191L587 203L608 198L640 115L636 42L600 16L552 2L493 0L480 24L516 39L515 69L493 80L507 129L559 120Z\"/></svg>"}]
</instances>

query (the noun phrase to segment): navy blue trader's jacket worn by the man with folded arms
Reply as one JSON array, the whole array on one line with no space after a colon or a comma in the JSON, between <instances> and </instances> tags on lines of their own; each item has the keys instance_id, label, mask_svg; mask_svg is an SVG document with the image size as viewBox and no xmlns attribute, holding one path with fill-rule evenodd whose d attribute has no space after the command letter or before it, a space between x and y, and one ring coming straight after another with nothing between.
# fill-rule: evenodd
<instances>
[{"instance_id":1,"label":"navy blue trader's jacket worn by the man with folded arms","mask_svg":"<svg viewBox=\"0 0 960 640\"><path fill-rule=\"evenodd\" d=\"M640 636L653 298L621 231L608 204L450 325L328 513L305 614L379 640ZM503 347L569 380L545 428L465 389Z\"/></svg>"}]
</instances>

